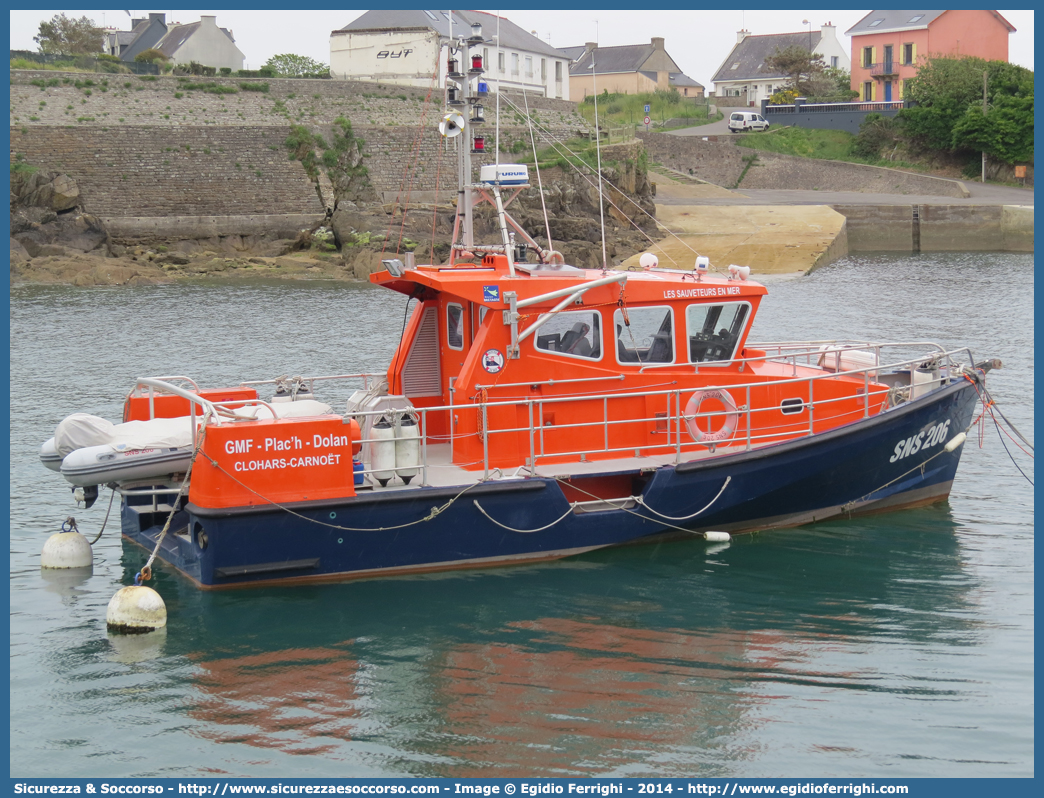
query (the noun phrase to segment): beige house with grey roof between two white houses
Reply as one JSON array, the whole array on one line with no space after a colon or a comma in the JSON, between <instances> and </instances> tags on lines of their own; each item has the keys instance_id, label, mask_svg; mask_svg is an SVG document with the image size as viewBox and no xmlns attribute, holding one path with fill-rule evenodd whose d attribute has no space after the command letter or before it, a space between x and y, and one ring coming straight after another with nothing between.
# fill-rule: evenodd
<instances>
[{"instance_id":1,"label":"beige house with grey roof between two white houses","mask_svg":"<svg viewBox=\"0 0 1044 798\"><path fill-rule=\"evenodd\" d=\"M667 54L662 37L648 44L599 47L588 42L583 47L563 50L573 56L569 67L569 93L576 100L599 94L644 94L657 89L678 89L683 97L704 96L704 87L682 72Z\"/></svg>"}]
</instances>

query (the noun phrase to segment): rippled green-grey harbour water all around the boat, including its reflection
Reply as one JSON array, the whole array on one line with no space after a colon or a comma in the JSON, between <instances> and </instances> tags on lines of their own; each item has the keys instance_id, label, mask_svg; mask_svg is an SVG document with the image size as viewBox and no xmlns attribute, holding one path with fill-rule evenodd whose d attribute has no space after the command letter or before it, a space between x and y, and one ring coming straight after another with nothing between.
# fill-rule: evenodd
<instances>
[{"instance_id":1,"label":"rippled green-grey harbour water all around the boat, including its reflection","mask_svg":"<svg viewBox=\"0 0 1044 798\"><path fill-rule=\"evenodd\" d=\"M850 258L769 283L755 337L966 344L1033 439L1033 258ZM364 286L11 291L15 776L1033 775L1033 489L987 430L949 502L543 566L205 593L110 638L145 555L43 577L75 511L39 463L139 376L378 371L404 299ZM343 397L321 397L340 404ZM1031 461L1015 449L1033 476Z\"/></svg>"}]
</instances>

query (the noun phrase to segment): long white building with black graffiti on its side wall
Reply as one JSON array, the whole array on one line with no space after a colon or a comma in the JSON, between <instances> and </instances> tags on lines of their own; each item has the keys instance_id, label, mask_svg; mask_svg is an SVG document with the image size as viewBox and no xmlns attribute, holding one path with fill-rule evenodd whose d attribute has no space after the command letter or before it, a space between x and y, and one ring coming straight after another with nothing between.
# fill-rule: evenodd
<instances>
[{"instance_id":1,"label":"long white building with black graffiti on its side wall","mask_svg":"<svg viewBox=\"0 0 1044 798\"><path fill-rule=\"evenodd\" d=\"M467 39L475 22L482 26L484 43L472 53L482 54L491 91L524 89L569 99L569 57L509 20L484 11L366 11L330 33L330 74L423 88L434 79L444 88L447 43L451 36Z\"/></svg>"}]
</instances>

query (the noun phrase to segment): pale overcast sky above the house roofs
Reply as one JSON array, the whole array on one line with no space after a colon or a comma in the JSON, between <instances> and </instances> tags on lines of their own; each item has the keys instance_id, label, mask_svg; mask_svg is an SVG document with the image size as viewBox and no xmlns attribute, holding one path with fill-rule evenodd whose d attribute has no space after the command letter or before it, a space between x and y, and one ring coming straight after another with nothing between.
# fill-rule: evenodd
<instances>
[{"instance_id":1,"label":"pale overcast sky above the house roofs","mask_svg":"<svg viewBox=\"0 0 1044 798\"><path fill-rule=\"evenodd\" d=\"M330 63L330 31L355 20L360 10L188 10L163 8L132 10L135 17L149 11L163 11L167 21L196 22L203 14L217 16L217 24L230 28L236 44L246 56L246 68L257 69L270 56L292 52ZM489 10L489 9L483 9ZM41 20L49 20L61 11L11 10L10 47L15 50L35 50L32 37ZM852 40L845 31L857 23L868 10L491 10L500 14L537 36L552 47L570 47L597 41L609 47L623 44L644 44L652 37L663 37L668 54L689 77L708 90L711 77L736 43L736 31L745 27L752 33L785 33L813 29L831 22L837 27L837 38L851 54ZM67 10L67 16L87 16L99 26L129 29L130 18L124 10ZM1031 10L1000 11L1018 32L1009 40L1009 57L1014 64L1034 68L1034 13ZM489 38L495 31L484 31Z\"/></svg>"}]
</instances>

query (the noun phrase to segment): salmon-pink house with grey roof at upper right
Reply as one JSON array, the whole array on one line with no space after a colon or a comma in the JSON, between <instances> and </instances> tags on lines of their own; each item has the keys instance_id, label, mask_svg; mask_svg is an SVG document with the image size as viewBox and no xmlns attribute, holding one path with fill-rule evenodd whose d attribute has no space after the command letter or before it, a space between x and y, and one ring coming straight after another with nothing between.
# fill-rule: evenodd
<instances>
[{"instance_id":1,"label":"salmon-pink house with grey roof at upper right","mask_svg":"<svg viewBox=\"0 0 1044 798\"><path fill-rule=\"evenodd\" d=\"M928 55L1007 61L1012 23L997 11L871 11L852 37L852 90L864 101L901 100Z\"/></svg>"}]
</instances>

